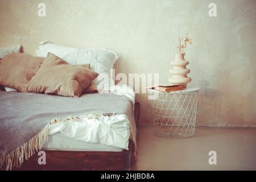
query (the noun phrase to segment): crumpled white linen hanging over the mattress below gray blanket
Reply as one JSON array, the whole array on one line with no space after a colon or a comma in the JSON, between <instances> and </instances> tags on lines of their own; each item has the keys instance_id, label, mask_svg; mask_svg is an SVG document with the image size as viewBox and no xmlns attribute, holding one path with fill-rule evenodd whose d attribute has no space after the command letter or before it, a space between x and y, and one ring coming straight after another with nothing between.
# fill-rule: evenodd
<instances>
[{"instance_id":1,"label":"crumpled white linen hanging over the mattress below gray blanket","mask_svg":"<svg viewBox=\"0 0 256 182\"><path fill-rule=\"evenodd\" d=\"M128 150L130 122L125 114L111 117L94 114L82 115L81 119L69 119L49 125L48 134L62 133L82 142L101 143Z\"/></svg>"}]
</instances>

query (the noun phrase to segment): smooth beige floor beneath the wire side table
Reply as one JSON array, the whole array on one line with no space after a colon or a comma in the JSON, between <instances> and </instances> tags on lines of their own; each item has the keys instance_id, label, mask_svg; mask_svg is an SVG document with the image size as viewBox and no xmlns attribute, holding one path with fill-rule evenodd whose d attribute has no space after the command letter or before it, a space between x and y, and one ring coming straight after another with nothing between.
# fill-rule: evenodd
<instances>
[{"instance_id":1,"label":"smooth beige floor beneath the wire side table","mask_svg":"<svg viewBox=\"0 0 256 182\"><path fill-rule=\"evenodd\" d=\"M209 151L217 165L209 165ZM198 127L187 139L155 137L139 127L138 160L133 170L256 170L256 129Z\"/></svg>"}]
</instances>

